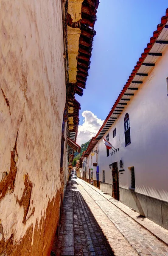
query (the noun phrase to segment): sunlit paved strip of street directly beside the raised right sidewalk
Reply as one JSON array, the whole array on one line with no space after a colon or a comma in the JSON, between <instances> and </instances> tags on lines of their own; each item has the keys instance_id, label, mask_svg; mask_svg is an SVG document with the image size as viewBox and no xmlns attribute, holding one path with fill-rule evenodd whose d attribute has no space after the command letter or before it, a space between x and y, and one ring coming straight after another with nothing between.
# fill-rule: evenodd
<instances>
[{"instance_id":1,"label":"sunlit paved strip of street directly beside the raised right sidewalk","mask_svg":"<svg viewBox=\"0 0 168 256\"><path fill-rule=\"evenodd\" d=\"M159 241L150 232L144 229L134 219L122 212L118 207L102 197L95 189L88 186L83 180L78 183L85 189L88 195L102 209L110 221L117 227L129 244L140 256L158 255L168 256L168 247Z\"/></svg>"}]
</instances>

